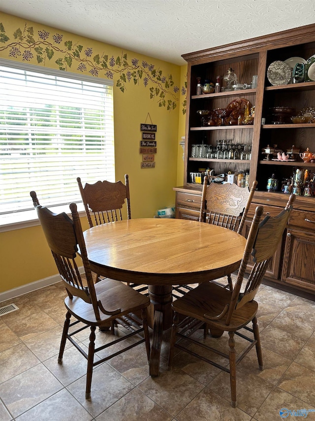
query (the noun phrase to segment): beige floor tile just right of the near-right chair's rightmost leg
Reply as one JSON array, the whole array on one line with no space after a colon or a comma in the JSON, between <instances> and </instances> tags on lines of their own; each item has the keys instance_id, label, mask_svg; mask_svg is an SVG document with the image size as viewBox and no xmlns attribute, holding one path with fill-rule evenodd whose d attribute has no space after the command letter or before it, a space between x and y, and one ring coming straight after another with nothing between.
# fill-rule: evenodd
<instances>
[{"instance_id":1,"label":"beige floor tile just right of the near-right chair's rightmost leg","mask_svg":"<svg viewBox=\"0 0 315 421\"><path fill-rule=\"evenodd\" d=\"M291 360L296 357L306 343L298 335L293 335L270 325L260 333L260 342L265 348Z\"/></svg>"}]
</instances>

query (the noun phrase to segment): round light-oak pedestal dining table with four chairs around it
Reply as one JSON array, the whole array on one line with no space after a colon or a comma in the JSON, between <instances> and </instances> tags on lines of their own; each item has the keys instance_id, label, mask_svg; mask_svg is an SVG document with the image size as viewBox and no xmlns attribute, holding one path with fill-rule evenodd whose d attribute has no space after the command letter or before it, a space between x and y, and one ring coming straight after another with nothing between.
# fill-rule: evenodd
<instances>
[{"instance_id":1,"label":"round light-oak pedestal dining table with four chairs around it","mask_svg":"<svg viewBox=\"0 0 315 421\"><path fill-rule=\"evenodd\" d=\"M130 219L84 231L91 269L148 285L153 328L150 375L157 376L163 330L172 324L172 285L218 279L237 270L246 239L234 231L184 219Z\"/></svg>"}]
</instances>

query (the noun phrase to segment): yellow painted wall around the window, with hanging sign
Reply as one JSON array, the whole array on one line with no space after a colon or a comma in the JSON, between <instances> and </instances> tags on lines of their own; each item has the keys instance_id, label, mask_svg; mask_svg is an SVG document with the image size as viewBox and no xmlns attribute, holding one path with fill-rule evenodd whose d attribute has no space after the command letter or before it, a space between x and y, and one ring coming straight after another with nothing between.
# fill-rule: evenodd
<instances>
[{"instance_id":1,"label":"yellow painted wall around the window, with hanging sign","mask_svg":"<svg viewBox=\"0 0 315 421\"><path fill-rule=\"evenodd\" d=\"M36 20L35 16L34 20ZM81 64L81 66L86 66L86 71L83 73L91 75L89 71L93 71L91 64L95 65L94 57L96 55L103 58L108 56L108 65L110 58L114 57L115 64L110 70L114 79L116 179L123 180L125 173L129 175L132 218L151 218L157 209L174 205L175 194L172 187L176 186L178 182L183 184L182 180L179 181L180 178L183 178L183 152L179 141L185 132L185 116L182 105L185 96L182 95L182 84L185 84L186 66L181 68L132 51L122 50L109 44L3 13L0 15L0 23L3 25L0 28L2 35L8 38L2 37L5 41L0 44L1 58L52 69L59 69L58 63L62 62L65 71L79 74L82 73L78 70ZM53 39L53 36L57 39L57 34L62 36L62 42L58 43ZM44 39L46 46L40 35L44 38L47 37ZM80 59L73 56L71 67L69 67L70 55L67 52L69 43L66 46L65 41L72 41L72 52L82 45L79 53ZM20 54L14 48L17 48ZM37 48L37 52L40 51L39 54L36 54L35 48ZM38 50L38 48L42 48L42 50ZM47 51L46 48L48 48ZM88 48L93 50L91 56L85 54ZM25 55L25 51L32 52L33 57L30 60L27 60L27 56L30 54ZM49 58L52 52L53 56ZM36 55L39 56L39 59ZM138 59L138 70L142 69L143 74L136 84L134 84L133 78L130 82L126 80L125 90L122 92L116 84L121 75L124 74L126 77L127 69L126 64L123 63L124 56L129 65L132 59ZM64 60L65 57L67 57L66 60ZM120 63L117 61L118 57L121 59ZM150 71L149 66L151 66ZM160 80L153 76L152 66L156 72L160 71ZM146 76L144 73L146 72L149 75L147 86L144 83ZM108 77L105 73L106 71L100 68L98 77ZM167 87L167 82L170 81L173 81L173 85ZM154 93L156 93L156 88L159 89L158 97L150 98L150 88L152 87ZM162 98L163 95L164 98ZM158 101L161 98L165 99L165 106L160 106ZM169 102L171 103L170 110L167 109ZM176 108L173 108L174 104ZM156 168L141 169L140 123L150 122L146 121L148 113L153 124L158 126L156 134L158 153L156 154ZM179 173L181 173L181 177ZM74 182L76 183L75 180ZM31 190L32 183L30 183ZM86 229L86 219L83 219L82 223L83 228ZM40 227L0 233L0 292L56 273L57 269Z\"/></svg>"}]
</instances>

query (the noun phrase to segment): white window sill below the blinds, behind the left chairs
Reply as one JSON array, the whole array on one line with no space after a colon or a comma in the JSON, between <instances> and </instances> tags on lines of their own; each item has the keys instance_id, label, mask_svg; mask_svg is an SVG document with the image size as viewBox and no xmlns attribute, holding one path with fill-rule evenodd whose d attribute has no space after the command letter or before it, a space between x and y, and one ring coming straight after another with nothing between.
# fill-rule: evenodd
<instances>
[{"instance_id":1,"label":"white window sill below the blinds, behind the left chairs","mask_svg":"<svg viewBox=\"0 0 315 421\"><path fill-rule=\"evenodd\" d=\"M83 203L77 203L78 213L80 218L86 216ZM65 212L71 215L69 205L55 206L49 208L52 212L61 213ZM35 227L40 225L35 209L16 212L6 215L0 215L0 232L21 230L23 228Z\"/></svg>"}]
</instances>

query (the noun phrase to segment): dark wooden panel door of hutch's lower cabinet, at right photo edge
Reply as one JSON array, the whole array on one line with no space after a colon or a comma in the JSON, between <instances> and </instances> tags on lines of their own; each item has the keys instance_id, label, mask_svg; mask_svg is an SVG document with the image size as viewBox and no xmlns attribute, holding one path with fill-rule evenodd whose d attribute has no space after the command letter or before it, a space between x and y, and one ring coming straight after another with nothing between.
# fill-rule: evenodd
<instances>
[{"instance_id":1,"label":"dark wooden panel door of hutch's lower cabinet, at right photo edge","mask_svg":"<svg viewBox=\"0 0 315 421\"><path fill-rule=\"evenodd\" d=\"M287 230L282 281L315 291L315 234Z\"/></svg>"}]
</instances>

